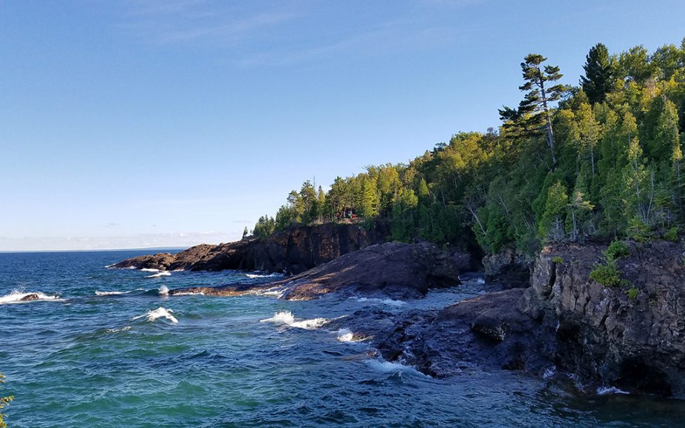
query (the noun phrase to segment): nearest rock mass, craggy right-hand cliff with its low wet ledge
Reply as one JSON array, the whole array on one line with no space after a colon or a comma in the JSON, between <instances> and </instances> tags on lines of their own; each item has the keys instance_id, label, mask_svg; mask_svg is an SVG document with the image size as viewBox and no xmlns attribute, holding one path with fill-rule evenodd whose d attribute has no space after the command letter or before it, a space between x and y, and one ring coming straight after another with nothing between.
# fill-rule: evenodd
<instances>
[{"instance_id":1,"label":"nearest rock mass, craggy right-hand cliff with its low wet ledge","mask_svg":"<svg viewBox=\"0 0 685 428\"><path fill-rule=\"evenodd\" d=\"M630 281L620 288L589 277L605 249L548 246L535 261L530 288L403 313L366 333L375 334L384 357L433 376L469 367L535 374L556 367L591 391L610 385L685 397L684 246L631 243L632 256L616 263Z\"/></svg>"}]
</instances>

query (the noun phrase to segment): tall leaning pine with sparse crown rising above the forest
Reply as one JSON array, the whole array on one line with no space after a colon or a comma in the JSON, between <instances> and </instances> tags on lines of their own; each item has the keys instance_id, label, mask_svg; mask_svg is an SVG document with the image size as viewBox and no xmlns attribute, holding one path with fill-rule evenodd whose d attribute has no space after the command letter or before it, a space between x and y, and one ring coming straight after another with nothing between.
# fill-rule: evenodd
<instances>
[{"instance_id":1,"label":"tall leaning pine with sparse crown rising above the forest","mask_svg":"<svg viewBox=\"0 0 685 428\"><path fill-rule=\"evenodd\" d=\"M505 107L500 112L500 118L505 122L504 128L519 135L538 133L542 128L547 131L547 144L551 150L551 160L556 165L556 151L554 149L554 132L551 128L549 104L558 101L565 93L563 84L553 84L561 79L557 66L544 66L547 58L540 54L528 54L521 63L521 71L526 83L521 85L521 91L528 91L519 108L514 110Z\"/></svg>"}]
</instances>

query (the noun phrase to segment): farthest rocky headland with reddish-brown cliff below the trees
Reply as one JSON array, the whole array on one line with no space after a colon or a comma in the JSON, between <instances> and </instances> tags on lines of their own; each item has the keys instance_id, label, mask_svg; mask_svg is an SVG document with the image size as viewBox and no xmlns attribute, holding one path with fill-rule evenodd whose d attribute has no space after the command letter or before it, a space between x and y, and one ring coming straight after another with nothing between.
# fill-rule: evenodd
<instances>
[{"instance_id":1,"label":"farthest rocky headland with reddish-brown cliff below the trees","mask_svg":"<svg viewBox=\"0 0 685 428\"><path fill-rule=\"evenodd\" d=\"M262 270L298 274L343 254L384 242L386 226L370 230L356 224L325 223L299 226L266 239L243 239L227 244L201 244L177 254L159 253L130 258L113 267L159 270Z\"/></svg>"}]
</instances>

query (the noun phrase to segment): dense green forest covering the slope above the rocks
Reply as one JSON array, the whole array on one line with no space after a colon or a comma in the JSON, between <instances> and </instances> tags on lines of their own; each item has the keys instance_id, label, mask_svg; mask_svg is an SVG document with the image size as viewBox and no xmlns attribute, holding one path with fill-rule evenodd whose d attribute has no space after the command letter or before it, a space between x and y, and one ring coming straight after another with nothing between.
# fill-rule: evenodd
<instances>
[{"instance_id":1,"label":"dense green forest covering the slope above the rocks","mask_svg":"<svg viewBox=\"0 0 685 428\"><path fill-rule=\"evenodd\" d=\"M521 102L485 133L460 132L408 165L370 165L324 189L307 181L252 231L389 224L391 239L505 246L678 239L685 222L685 39L654 52L591 47L576 86L540 54L521 63ZM354 219L352 217L354 216Z\"/></svg>"}]
</instances>

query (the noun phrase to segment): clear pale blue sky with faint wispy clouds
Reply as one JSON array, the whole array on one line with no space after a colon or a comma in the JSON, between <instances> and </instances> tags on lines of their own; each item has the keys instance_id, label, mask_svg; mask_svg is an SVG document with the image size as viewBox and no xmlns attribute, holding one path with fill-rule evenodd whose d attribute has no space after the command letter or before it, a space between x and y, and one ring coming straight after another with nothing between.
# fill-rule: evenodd
<instances>
[{"instance_id":1,"label":"clear pale blue sky with faint wispy clouds","mask_svg":"<svg viewBox=\"0 0 685 428\"><path fill-rule=\"evenodd\" d=\"M674 1L0 0L0 251L239 239L287 193L498 126L531 52L685 36Z\"/></svg>"}]
</instances>

